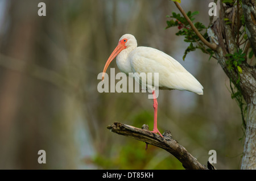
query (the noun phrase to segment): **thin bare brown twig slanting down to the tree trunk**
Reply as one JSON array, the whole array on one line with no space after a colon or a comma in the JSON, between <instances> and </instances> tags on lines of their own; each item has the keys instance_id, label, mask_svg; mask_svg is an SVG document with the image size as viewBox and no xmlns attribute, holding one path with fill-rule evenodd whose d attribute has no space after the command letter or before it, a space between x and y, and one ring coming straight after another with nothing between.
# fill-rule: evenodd
<instances>
[{"instance_id":1,"label":"thin bare brown twig slanting down to the tree trunk","mask_svg":"<svg viewBox=\"0 0 256 181\"><path fill-rule=\"evenodd\" d=\"M203 37L203 35L201 35L201 33L197 30L197 28L194 26L194 24L191 22L191 20L188 18L187 14L185 13L185 11L182 9L182 7L179 5L178 2L174 2L175 5L177 6L177 9L180 10L181 14L183 14L184 18L187 20L187 22L189 23L189 25L191 26L192 30L196 33L196 35L199 37L199 39L201 41L203 41L203 43L205 45L207 45L207 47L209 47L212 50L216 50L217 45L214 43L210 43L209 41L205 40L205 38Z\"/></svg>"}]
</instances>

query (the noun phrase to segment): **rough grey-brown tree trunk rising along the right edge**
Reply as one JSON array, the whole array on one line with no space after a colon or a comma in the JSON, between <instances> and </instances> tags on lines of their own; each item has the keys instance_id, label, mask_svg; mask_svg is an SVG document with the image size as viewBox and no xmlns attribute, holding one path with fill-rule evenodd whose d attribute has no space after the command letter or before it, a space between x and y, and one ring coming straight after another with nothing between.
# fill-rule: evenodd
<instances>
[{"instance_id":1,"label":"rough grey-brown tree trunk rising along the right edge","mask_svg":"<svg viewBox=\"0 0 256 181\"><path fill-rule=\"evenodd\" d=\"M243 1L243 3L250 3L250 1ZM250 12L247 11L250 6ZM234 54L239 49L236 43L237 30L240 26L233 24L234 28L230 24L225 23L224 18L229 17L232 14L228 14L226 11L227 7L220 3L220 17L213 23L213 25L208 30L208 35L212 43L218 45L215 55L217 57L218 63L221 68L225 71L229 79L236 85L240 74L240 88L242 96L247 104L247 121L246 121L246 138L245 146L243 150L243 159L241 169L256 169L256 67L250 66L246 61L243 61L241 66L242 73L238 73L236 69L229 70L227 68L226 61L228 58L226 54ZM251 48L255 54L256 39L256 21L254 21L255 9L253 5L244 5L243 12L246 20L246 33L250 40ZM254 11L253 11L254 10ZM235 11L233 11L235 13ZM241 14L240 14L241 15ZM255 23L255 24L254 24ZM248 24L248 26L247 26ZM250 26L249 26L250 24ZM238 29L237 29L238 28Z\"/></svg>"}]
</instances>

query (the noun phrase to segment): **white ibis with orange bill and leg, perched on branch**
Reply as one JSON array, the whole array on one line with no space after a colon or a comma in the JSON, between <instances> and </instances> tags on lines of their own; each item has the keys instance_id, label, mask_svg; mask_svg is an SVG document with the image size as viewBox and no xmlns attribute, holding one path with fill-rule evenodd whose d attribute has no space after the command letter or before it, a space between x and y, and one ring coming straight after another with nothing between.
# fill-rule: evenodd
<instances>
[{"instance_id":1,"label":"white ibis with orange bill and leg, perched on branch","mask_svg":"<svg viewBox=\"0 0 256 181\"><path fill-rule=\"evenodd\" d=\"M102 81L115 56L117 56L117 66L123 73L159 73L159 89L187 90L203 95L203 86L179 62L158 49L137 47L137 40L130 34L125 34L119 39L117 47L105 64ZM152 133L159 133L163 137L157 128L158 102L154 90L152 90L152 95L154 98L154 128Z\"/></svg>"}]
</instances>

